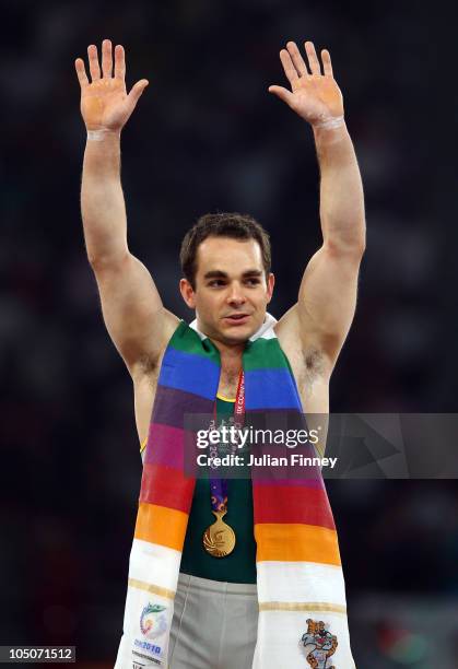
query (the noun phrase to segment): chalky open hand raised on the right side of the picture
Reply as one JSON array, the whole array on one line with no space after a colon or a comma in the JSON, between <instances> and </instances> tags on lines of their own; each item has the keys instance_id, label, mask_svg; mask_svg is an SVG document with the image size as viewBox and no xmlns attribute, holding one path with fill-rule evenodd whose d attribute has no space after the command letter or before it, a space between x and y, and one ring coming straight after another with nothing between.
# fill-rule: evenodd
<instances>
[{"instance_id":1,"label":"chalky open hand raised on the right side of the picture","mask_svg":"<svg viewBox=\"0 0 458 669\"><path fill-rule=\"evenodd\" d=\"M324 68L324 74L321 74L320 62L313 42L305 43L312 73L307 70L295 42L289 42L286 49L280 51L280 60L292 91L283 86L269 86L269 93L280 97L312 126L326 125L334 118L342 117L342 93L332 75L329 51L327 49L321 51Z\"/></svg>"}]
</instances>

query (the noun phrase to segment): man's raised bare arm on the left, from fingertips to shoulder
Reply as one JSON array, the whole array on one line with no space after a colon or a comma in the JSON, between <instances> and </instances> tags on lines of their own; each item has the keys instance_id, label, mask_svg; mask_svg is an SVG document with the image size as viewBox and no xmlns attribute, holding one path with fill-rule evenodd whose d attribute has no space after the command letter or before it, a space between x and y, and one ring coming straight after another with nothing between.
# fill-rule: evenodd
<instances>
[{"instance_id":1,"label":"man's raised bare arm on the left, from fingertips to shoulder","mask_svg":"<svg viewBox=\"0 0 458 669\"><path fill-rule=\"evenodd\" d=\"M121 45L87 48L91 83L84 61L75 60L81 114L87 130L81 186L81 211L87 258L95 273L102 310L111 340L132 377L157 362L178 319L167 312L150 272L132 256L127 242L126 207L120 180L120 136L148 85L142 79L126 91Z\"/></svg>"}]
</instances>

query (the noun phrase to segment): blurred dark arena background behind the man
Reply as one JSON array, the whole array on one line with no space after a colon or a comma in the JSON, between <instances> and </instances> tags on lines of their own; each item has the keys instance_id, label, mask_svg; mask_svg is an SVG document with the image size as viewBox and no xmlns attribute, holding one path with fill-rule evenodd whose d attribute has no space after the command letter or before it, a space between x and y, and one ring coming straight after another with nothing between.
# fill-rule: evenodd
<instances>
[{"instance_id":1,"label":"blurred dark arena background behind the man","mask_svg":"<svg viewBox=\"0 0 458 669\"><path fill-rule=\"evenodd\" d=\"M442 0L2 3L0 645L77 645L95 669L121 634L141 460L83 244L75 57L109 37L128 89L150 80L122 133L122 184L130 248L165 305L191 316L186 230L239 211L271 233L280 316L320 243L318 172L309 128L267 89L285 85L289 39L328 47L368 226L331 409L454 412L457 14ZM457 482L328 490L359 669L458 668Z\"/></svg>"}]
</instances>

